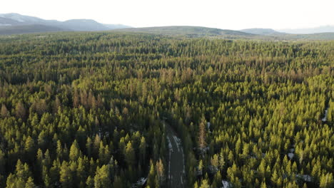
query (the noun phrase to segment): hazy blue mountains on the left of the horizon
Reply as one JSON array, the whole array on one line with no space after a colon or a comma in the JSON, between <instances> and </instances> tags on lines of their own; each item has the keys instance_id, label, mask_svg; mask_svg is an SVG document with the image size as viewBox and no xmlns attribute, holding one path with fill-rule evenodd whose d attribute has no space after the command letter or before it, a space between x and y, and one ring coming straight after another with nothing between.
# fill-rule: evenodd
<instances>
[{"instance_id":1,"label":"hazy blue mountains on the left of the horizon","mask_svg":"<svg viewBox=\"0 0 334 188\"><path fill-rule=\"evenodd\" d=\"M56 21L16 13L0 14L0 31L2 31L0 34L38 33L46 31L107 31L115 28L129 27L121 24L98 23L91 19Z\"/></svg>"}]
</instances>

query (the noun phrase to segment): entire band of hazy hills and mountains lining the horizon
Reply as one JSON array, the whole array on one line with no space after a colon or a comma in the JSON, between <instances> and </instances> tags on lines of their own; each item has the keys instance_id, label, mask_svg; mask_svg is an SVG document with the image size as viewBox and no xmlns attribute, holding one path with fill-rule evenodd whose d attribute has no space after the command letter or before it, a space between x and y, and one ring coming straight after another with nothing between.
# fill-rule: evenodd
<instances>
[{"instance_id":1,"label":"entire band of hazy hills and mountains lining the horizon","mask_svg":"<svg viewBox=\"0 0 334 188\"><path fill-rule=\"evenodd\" d=\"M92 19L71 19L68 21L44 20L21 14L0 14L0 35L21 33L43 33L56 31L126 31L136 33L155 33L183 35L190 37L219 38L255 38L255 39L320 39L333 40L334 26L318 28L285 29L275 31L272 28L246 28L240 31L207 28L198 26L163 26L132 28L121 24L103 24Z\"/></svg>"}]
</instances>

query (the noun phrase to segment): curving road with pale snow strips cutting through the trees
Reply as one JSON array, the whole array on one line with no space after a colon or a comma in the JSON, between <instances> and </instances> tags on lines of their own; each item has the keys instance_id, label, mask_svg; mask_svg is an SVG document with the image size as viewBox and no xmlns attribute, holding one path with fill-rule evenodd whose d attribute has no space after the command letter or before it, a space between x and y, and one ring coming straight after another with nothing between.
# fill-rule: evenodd
<instances>
[{"instance_id":1,"label":"curving road with pale snow strips cutting through the trees","mask_svg":"<svg viewBox=\"0 0 334 188\"><path fill-rule=\"evenodd\" d=\"M184 154L180 138L168 123L163 122L166 126L168 141L168 174L167 187L183 188L185 182Z\"/></svg>"}]
</instances>

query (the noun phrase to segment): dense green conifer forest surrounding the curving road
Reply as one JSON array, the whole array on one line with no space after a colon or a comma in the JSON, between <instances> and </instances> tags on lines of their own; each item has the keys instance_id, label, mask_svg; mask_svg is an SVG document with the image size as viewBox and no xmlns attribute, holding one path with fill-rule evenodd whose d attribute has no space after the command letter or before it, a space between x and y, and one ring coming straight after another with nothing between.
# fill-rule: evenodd
<instances>
[{"instance_id":1,"label":"dense green conifer forest surrounding the curving road","mask_svg":"<svg viewBox=\"0 0 334 188\"><path fill-rule=\"evenodd\" d=\"M334 187L333 66L334 41L1 37L0 187L167 187L162 120L184 187Z\"/></svg>"}]
</instances>

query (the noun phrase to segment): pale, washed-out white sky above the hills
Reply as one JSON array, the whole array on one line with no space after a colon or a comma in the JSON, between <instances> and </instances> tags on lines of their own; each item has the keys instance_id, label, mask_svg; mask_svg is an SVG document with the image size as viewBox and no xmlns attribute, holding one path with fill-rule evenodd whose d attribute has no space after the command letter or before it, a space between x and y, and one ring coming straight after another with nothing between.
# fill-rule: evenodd
<instances>
[{"instance_id":1,"label":"pale, washed-out white sky above the hills","mask_svg":"<svg viewBox=\"0 0 334 188\"><path fill-rule=\"evenodd\" d=\"M309 28L334 25L334 0L2 0L0 13L41 19L214 28Z\"/></svg>"}]
</instances>

